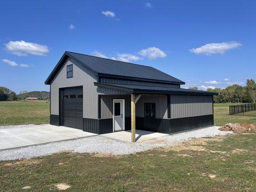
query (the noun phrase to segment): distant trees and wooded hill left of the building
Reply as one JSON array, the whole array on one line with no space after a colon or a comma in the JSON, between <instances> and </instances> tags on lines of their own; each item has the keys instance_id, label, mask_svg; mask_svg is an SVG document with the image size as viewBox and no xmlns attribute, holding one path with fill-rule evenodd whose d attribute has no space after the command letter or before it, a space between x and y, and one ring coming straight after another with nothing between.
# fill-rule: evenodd
<instances>
[{"instance_id":1,"label":"distant trees and wooded hill left of the building","mask_svg":"<svg viewBox=\"0 0 256 192\"><path fill-rule=\"evenodd\" d=\"M37 97L38 100L47 100L50 98L50 93L48 91L21 91L17 95L14 91L6 87L0 87L0 101L25 100L26 97Z\"/></svg>"}]
</instances>

